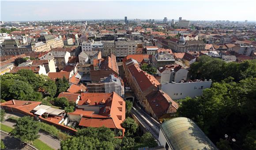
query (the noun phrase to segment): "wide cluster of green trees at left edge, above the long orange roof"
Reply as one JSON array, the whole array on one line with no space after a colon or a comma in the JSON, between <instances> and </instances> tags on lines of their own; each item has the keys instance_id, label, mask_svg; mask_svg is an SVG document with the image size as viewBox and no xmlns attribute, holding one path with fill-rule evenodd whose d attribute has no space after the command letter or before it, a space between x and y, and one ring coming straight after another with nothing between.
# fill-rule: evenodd
<instances>
[{"instance_id":1,"label":"wide cluster of green trees at left edge, above the long orange roof","mask_svg":"<svg viewBox=\"0 0 256 150\"><path fill-rule=\"evenodd\" d=\"M54 97L58 89L67 87L67 79L60 79L65 82L56 83L45 75L38 75L32 70L19 70L17 73L1 75L1 99L11 100L32 100L41 101L45 97Z\"/></svg>"}]
</instances>

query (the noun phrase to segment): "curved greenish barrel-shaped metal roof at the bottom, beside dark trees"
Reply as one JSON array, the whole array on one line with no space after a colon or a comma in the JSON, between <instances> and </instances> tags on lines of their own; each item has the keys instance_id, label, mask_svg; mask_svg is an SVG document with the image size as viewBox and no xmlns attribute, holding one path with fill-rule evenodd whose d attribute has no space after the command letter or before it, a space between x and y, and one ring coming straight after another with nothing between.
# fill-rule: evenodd
<instances>
[{"instance_id":1,"label":"curved greenish barrel-shaped metal roof at the bottom, beside dark trees","mask_svg":"<svg viewBox=\"0 0 256 150\"><path fill-rule=\"evenodd\" d=\"M174 150L218 150L201 129L186 117L161 124L162 131Z\"/></svg>"}]
</instances>

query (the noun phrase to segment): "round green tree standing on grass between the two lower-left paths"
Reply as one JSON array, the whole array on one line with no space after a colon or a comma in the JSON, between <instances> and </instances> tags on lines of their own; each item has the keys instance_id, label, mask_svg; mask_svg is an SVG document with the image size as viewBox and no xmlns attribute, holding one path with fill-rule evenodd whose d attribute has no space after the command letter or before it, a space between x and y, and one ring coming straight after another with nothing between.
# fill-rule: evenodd
<instances>
[{"instance_id":1,"label":"round green tree standing on grass between the two lower-left paths","mask_svg":"<svg viewBox=\"0 0 256 150\"><path fill-rule=\"evenodd\" d=\"M14 127L11 135L22 141L30 141L32 143L32 141L39 138L38 132L40 127L38 122L34 121L30 116L19 118Z\"/></svg>"}]
</instances>

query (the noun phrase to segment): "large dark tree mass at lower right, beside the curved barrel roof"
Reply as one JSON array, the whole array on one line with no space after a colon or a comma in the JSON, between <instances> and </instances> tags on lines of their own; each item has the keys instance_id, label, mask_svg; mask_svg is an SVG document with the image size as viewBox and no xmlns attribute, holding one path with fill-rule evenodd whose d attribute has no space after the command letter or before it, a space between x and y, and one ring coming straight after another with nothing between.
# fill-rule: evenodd
<instances>
[{"instance_id":1,"label":"large dark tree mass at lower right, beside the curved barrel roof","mask_svg":"<svg viewBox=\"0 0 256 150\"><path fill-rule=\"evenodd\" d=\"M242 68L248 69L253 66L250 63L238 66L245 65ZM215 73L218 75L216 70ZM220 83L215 82L211 88L203 90L202 96L182 100L177 111L179 116L195 121L213 142L225 139L225 134L236 139L236 144L220 140L217 144L220 149L229 146L233 149L239 146L248 150L256 148L253 134L256 130L256 78L250 77L252 73L246 70L240 73L245 79L237 76L236 79L229 77ZM220 78L215 77L215 80Z\"/></svg>"}]
</instances>

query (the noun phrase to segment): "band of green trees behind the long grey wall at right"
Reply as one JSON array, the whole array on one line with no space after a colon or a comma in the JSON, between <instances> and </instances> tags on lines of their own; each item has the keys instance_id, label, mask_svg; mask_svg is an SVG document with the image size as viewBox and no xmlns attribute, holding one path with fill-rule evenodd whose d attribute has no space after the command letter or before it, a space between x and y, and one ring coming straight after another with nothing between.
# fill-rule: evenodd
<instances>
[{"instance_id":1,"label":"band of green trees behind the long grey wall at right","mask_svg":"<svg viewBox=\"0 0 256 150\"><path fill-rule=\"evenodd\" d=\"M194 79L211 79L219 82L227 77L233 77L237 82L247 77L256 77L256 60L226 63L222 59L203 55L191 65L190 72Z\"/></svg>"}]
</instances>

